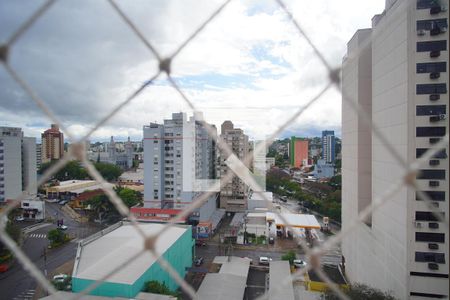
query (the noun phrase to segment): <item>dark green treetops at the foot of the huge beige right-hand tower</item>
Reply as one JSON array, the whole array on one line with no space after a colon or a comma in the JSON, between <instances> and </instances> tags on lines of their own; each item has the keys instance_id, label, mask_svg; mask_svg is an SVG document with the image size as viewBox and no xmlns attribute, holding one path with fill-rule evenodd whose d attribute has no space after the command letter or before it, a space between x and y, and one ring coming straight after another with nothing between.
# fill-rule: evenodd
<instances>
[{"instance_id":1,"label":"dark green treetops at the foot of the huge beige right-hand tower","mask_svg":"<svg viewBox=\"0 0 450 300\"><path fill-rule=\"evenodd\" d=\"M350 299L365 300L396 300L396 298L387 292L375 289L365 284L351 284L347 290L343 291ZM327 290L324 294L325 300L339 300L339 296L335 295L332 290Z\"/></svg>"}]
</instances>

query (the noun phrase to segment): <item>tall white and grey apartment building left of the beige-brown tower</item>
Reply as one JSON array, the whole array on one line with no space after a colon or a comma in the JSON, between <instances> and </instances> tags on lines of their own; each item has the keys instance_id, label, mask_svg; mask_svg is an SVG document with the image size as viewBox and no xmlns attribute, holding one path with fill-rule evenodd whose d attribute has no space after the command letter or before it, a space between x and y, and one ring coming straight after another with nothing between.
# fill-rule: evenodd
<instances>
[{"instance_id":1,"label":"tall white and grey apartment building left of the beige-brown tower","mask_svg":"<svg viewBox=\"0 0 450 300\"><path fill-rule=\"evenodd\" d=\"M145 208L184 209L202 193L194 188L195 180L216 177L216 141L202 119L199 114L188 120L185 113L173 113L163 124L144 126ZM208 220L216 210L217 196L210 197L191 220Z\"/></svg>"}]
</instances>

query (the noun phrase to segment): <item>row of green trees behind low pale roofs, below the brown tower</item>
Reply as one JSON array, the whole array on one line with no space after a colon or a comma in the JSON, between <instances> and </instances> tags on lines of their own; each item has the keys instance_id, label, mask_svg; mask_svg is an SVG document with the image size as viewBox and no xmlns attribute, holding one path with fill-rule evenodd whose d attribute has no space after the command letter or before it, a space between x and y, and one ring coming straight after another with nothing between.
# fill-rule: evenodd
<instances>
[{"instance_id":1,"label":"row of green trees behind low pale roofs, below the brown tower","mask_svg":"<svg viewBox=\"0 0 450 300\"><path fill-rule=\"evenodd\" d=\"M44 163L41 165L39 169L39 173L43 174L45 170L50 168L57 161L51 161L48 163ZM105 178L107 181L116 181L120 175L122 175L122 169L116 165L109 163L96 162L94 163L97 171ZM68 162L61 170L59 170L55 175L53 175L54 179L59 181L64 180L73 180L73 179L91 179L91 176L86 171L86 168L83 164L77 160L72 160Z\"/></svg>"}]
</instances>

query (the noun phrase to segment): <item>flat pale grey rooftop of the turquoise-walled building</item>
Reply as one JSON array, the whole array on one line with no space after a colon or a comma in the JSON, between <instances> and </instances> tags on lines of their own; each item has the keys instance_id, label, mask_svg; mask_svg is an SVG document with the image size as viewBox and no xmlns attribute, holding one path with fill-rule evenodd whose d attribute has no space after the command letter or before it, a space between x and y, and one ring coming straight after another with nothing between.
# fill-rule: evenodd
<instances>
[{"instance_id":1,"label":"flat pale grey rooftop of the turquoise-walled building","mask_svg":"<svg viewBox=\"0 0 450 300\"><path fill-rule=\"evenodd\" d=\"M155 234L164 225L154 223L139 223L139 228L147 235ZM187 230L186 226L172 226L156 241L156 251L160 254L182 236ZM129 223L112 229L109 232L102 231L103 235L97 238L88 238L80 243L74 266L73 277L97 280L109 274L117 266L124 264L144 249L142 237ZM108 281L132 284L147 271L155 257L149 252L144 252L122 269L108 278Z\"/></svg>"}]
</instances>

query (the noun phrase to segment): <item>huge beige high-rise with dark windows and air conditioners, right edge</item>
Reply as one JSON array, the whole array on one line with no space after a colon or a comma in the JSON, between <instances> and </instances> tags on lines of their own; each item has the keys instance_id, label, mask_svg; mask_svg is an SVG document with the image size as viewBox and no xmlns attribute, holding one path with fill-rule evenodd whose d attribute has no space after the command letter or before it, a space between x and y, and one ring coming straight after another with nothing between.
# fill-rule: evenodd
<instances>
[{"instance_id":1,"label":"huge beige high-rise with dark windows and air conditioners, right edge","mask_svg":"<svg viewBox=\"0 0 450 300\"><path fill-rule=\"evenodd\" d=\"M342 229L448 134L448 0L388 0L343 61ZM354 112L349 101L366 115ZM370 124L385 137L379 139ZM342 242L350 281L398 299L448 298L448 146L421 167L417 189L391 195Z\"/></svg>"}]
</instances>

